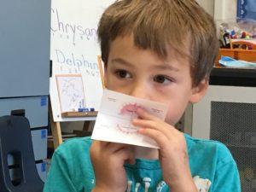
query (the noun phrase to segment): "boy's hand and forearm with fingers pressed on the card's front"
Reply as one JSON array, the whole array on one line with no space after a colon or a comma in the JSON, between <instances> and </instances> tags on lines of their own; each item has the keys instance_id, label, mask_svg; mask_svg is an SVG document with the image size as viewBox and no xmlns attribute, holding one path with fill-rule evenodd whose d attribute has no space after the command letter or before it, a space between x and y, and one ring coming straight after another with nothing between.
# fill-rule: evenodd
<instances>
[{"instance_id":1,"label":"boy's hand and forearm with fingers pressed on the card's front","mask_svg":"<svg viewBox=\"0 0 256 192\"><path fill-rule=\"evenodd\" d=\"M163 178L172 191L197 191L189 169L189 157L185 137L175 127L137 109L140 119L133 119L133 125L142 127L138 133L154 139L159 145L159 160Z\"/></svg>"}]
</instances>

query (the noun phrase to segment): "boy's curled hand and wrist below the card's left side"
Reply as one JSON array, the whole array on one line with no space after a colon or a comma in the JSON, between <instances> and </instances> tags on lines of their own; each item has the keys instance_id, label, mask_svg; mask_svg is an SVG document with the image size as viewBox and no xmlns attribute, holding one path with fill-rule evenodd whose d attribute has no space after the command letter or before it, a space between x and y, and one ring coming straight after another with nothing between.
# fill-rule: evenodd
<instances>
[{"instance_id":1,"label":"boy's curled hand and wrist below the card's left side","mask_svg":"<svg viewBox=\"0 0 256 192\"><path fill-rule=\"evenodd\" d=\"M134 162L127 145L94 141L90 148L90 160L96 176L96 186L93 191L125 191L127 180L124 163Z\"/></svg>"}]
</instances>

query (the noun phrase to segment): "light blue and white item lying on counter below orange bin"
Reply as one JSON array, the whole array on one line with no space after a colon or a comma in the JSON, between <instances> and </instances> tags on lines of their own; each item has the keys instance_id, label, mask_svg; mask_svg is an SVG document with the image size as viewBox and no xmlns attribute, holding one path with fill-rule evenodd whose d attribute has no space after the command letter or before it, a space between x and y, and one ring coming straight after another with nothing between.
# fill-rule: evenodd
<instances>
[{"instance_id":1,"label":"light blue and white item lying on counter below orange bin","mask_svg":"<svg viewBox=\"0 0 256 192\"><path fill-rule=\"evenodd\" d=\"M255 67L256 68L255 62L235 60L229 56L222 56L218 62L225 67Z\"/></svg>"}]
</instances>

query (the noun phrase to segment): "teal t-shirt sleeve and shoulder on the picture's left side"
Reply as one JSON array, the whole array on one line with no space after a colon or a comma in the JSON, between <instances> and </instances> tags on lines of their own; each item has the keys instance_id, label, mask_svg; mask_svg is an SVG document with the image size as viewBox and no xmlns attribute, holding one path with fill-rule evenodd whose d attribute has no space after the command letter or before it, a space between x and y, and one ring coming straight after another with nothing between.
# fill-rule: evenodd
<instances>
[{"instance_id":1,"label":"teal t-shirt sleeve and shoulder on the picture's left side","mask_svg":"<svg viewBox=\"0 0 256 192\"><path fill-rule=\"evenodd\" d=\"M44 192L90 192L95 175L90 162L90 137L75 137L55 149Z\"/></svg>"}]
</instances>

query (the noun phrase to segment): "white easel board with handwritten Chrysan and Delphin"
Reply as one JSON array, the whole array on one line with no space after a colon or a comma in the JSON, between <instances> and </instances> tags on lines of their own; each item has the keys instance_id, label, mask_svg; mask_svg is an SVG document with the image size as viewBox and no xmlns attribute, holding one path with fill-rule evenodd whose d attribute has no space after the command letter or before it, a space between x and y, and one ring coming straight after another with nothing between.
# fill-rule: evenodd
<instances>
[{"instance_id":1,"label":"white easel board with handwritten Chrysan and Delphin","mask_svg":"<svg viewBox=\"0 0 256 192\"><path fill-rule=\"evenodd\" d=\"M50 60L52 61L52 79L50 80L49 94L55 121L76 120L61 118L56 75L62 73L81 74L84 90L86 90L84 91L86 108L97 110L100 106L102 79L97 55L101 55L101 50L96 30L104 9L114 1L51 1Z\"/></svg>"}]
</instances>

